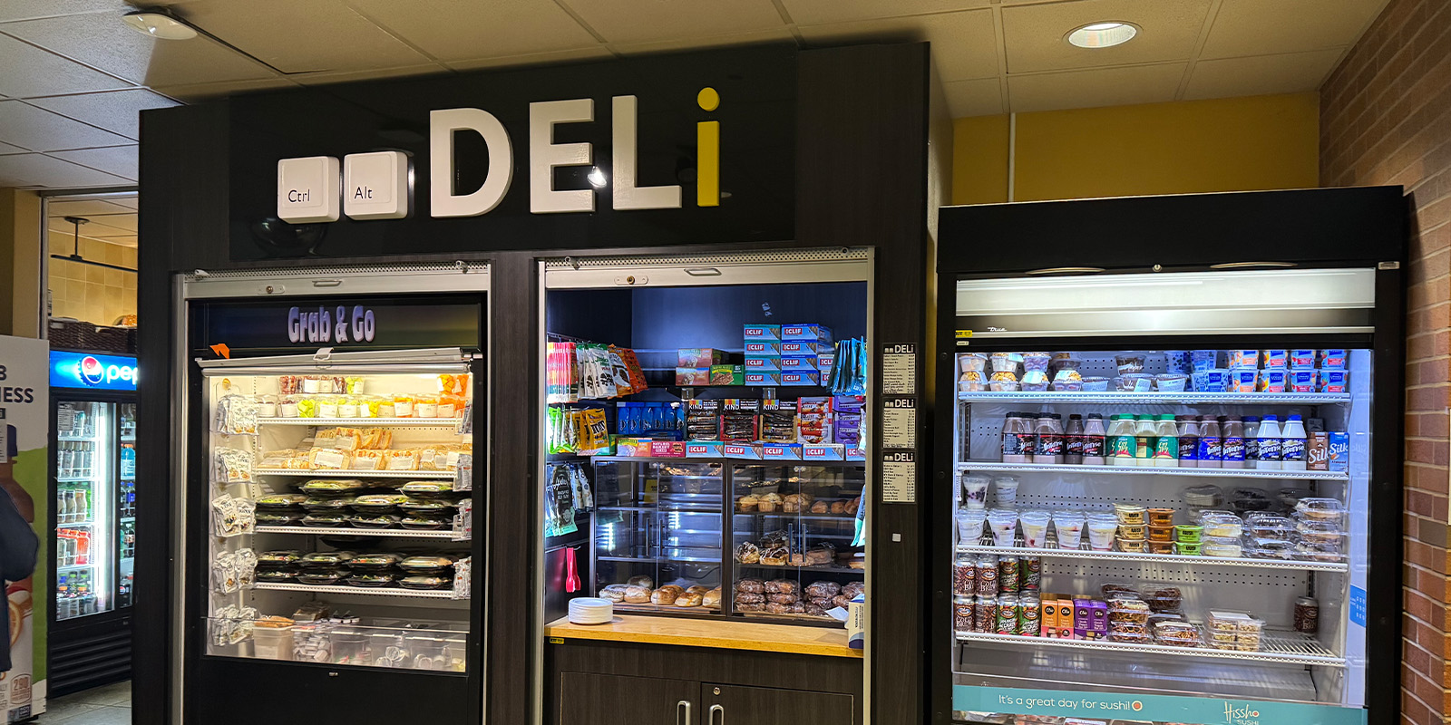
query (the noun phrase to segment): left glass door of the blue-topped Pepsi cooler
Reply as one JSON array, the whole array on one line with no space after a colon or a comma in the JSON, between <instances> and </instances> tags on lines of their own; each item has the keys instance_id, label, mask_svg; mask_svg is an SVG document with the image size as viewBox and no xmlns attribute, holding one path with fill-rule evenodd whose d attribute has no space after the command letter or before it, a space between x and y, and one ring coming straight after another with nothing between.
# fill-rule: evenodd
<instances>
[{"instance_id":1,"label":"left glass door of the blue-topped Pepsi cooler","mask_svg":"<svg viewBox=\"0 0 1451 725\"><path fill-rule=\"evenodd\" d=\"M115 609L116 406L57 403L55 618Z\"/></svg>"}]
</instances>

